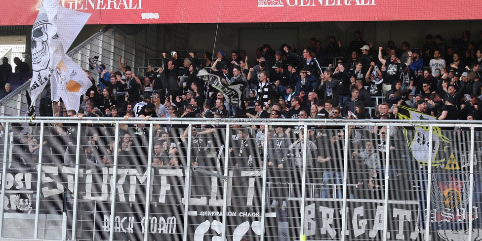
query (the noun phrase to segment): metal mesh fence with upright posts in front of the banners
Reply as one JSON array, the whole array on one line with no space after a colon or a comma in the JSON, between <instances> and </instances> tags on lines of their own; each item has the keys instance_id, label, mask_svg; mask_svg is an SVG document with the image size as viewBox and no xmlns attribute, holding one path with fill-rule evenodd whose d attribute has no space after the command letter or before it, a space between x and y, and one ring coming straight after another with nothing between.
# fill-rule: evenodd
<instances>
[{"instance_id":1,"label":"metal mesh fence with upright posts in front of the banners","mask_svg":"<svg viewBox=\"0 0 482 241\"><path fill-rule=\"evenodd\" d=\"M5 238L478 240L478 125L18 121Z\"/></svg>"}]
</instances>

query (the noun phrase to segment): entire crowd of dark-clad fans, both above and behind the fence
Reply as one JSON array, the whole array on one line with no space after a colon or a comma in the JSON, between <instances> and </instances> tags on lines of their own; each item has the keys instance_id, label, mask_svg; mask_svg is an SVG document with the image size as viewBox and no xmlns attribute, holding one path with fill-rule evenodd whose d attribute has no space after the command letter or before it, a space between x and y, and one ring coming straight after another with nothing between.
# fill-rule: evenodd
<instances>
[{"instance_id":1,"label":"entire crowd of dark-clad fans, both above and behind the fence","mask_svg":"<svg viewBox=\"0 0 482 241\"><path fill-rule=\"evenodd\" d=\"M482 84L479 81L482 32L478 42L471 41L469 32L464 31L462 39L453 38L451 44L440 35L428 35L420 50L410 49L408 42L402 42L399 49L393 41L389 41L387 47L376 48L371 42L362 40L359 31L347 46L334 36L328 37L325 48L321 44L321 40L310 39L310 46L300 51L301 56L297 55L296 48L287 44L278 50L264 44L256 50L252 67L248 65L243 50L232 51L231 56L219 50L216 58L205 52L202 60L195 52L190 52L184 59L174 51L170 58L167 53L162 53L164 66L156 70L149 66L145 77L136 76L126 65L127 60L122 63L122 56L117 72L108 71L99 64L101 58L90 58L91 69L98 72L99 84L96 84L97 77L94 79L90 71L85 71L92 86L85 93L79 113L76 110L66 113L69 117L84 112L88 117L123 117L126 120L132 117L396 119L399 107L403 105L442 120L482 118ZM233 105L222 92L208 86L198 76L201 69L219 76L226 86L241 86L243 103ZM373 96L384 96L385 101L375 107L373 115L369 115L366 107L374 107ZM224 159L220 157L225 156L224 151L229 151L230 166L260 167L263 165L263 147L268 145L266 155L271 181L279 182L280 178L286 177L271 170L289 167L294 170L291 176L299 173L303 167L305 134L301 126L270 126L268 133L265 133L264 126L248 127L232 126L232 133L226 134L222 126L202 125L192 130L175 124L159 126L153 144L152 164L185 165L186 160L181 157L187 156L187 137L192 131L192 165L222 167ZM73 134L68 129L69 126L65 125L51 128L49 133L55 134L50 134L52 140L47 140L46 145L52 145L47 150L55 152L56 158L46 160L69 161L65 158L67 154L64 155L69 141L60 140L71 138L69 136ZM112 164L116 143L112 129L109 126L85 128L82 155L86 164ZM149 163L147 127L126 124L121 129L119 163L134 166ZM460 132L467 129L442 130L453 131L454 138L466 138ZM372 189L384 184L384 154L388 149L388 175L392 175L390 180L399 182L394 185L401 186L401 189L393 190L411 187L407 183L411 183L413 170L418 164L408 151L401 130L392 127L390 133L392 141L388 147L386 127L350 127L347 137L350 139L349 158L354 160L350 162L350 168L354 170L350 179L356 180L352 183L356 188L365 186L369 190L363 195L375 195ZM265 134L268 143L264 143ZM345 147L342 141L345 131L337 126L323 125L309 129L307 134L306 166L314 170L310 171L309 180L342 184L344 153L340 150ZM228 150L223 149L226 136L230 138ZM19 134L18 138L20 149L23 149L17 153L27 155L38 149L39 141L34 135ZM462 149L468 150L460 147ZM319 170L323 171L322 177L316 174ZM329 185L322 186L319 196L328 197L330 189ZM341 195L341 189L333 194L336 197Z\"/></svg>"}]
</instances>

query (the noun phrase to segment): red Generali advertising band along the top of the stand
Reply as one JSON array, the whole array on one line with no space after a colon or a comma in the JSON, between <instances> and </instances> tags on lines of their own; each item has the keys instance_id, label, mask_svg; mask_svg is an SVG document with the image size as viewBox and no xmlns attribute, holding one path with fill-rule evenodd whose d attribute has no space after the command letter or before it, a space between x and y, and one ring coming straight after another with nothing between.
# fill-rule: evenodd
<instances>
[{"instance_id":1,"label":"red Generali advertising band along the top of the stand","mask_svg":"<svg viewBox=\"0 0 482 241\"><path fill-rule=\"evenodd\" d=\"M59 0L60 5L92 13L87 24L253 23L400 20L478 20L480 1L466 0ZM41 3L33 0L0 1L0 26L33 25ZM447 7L452 6L452 7ZM220 11L221 10L221 11ZM213 14L213 13L216 14ZM219 15L217 14L219 12ZM340 14L343 13L341 16ZM365 13L365 14L361 14ZM262 17L261 17L262 16Z\"/></svg>"}]
</instances>

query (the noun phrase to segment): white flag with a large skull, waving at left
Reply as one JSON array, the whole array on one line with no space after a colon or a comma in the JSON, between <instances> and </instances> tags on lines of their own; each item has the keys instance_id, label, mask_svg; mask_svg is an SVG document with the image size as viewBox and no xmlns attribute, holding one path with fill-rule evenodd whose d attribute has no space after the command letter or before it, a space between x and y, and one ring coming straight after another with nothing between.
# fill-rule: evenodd
<instances>
[{"instance_id":1,"label":"white flag with a large skull, waving at left","mask_svg":"<svg viewBox=\"0 0 482 241\"><path fill-rule=\"evenodd\" d=\"M42 0L32 28L31 106L50 80L52 101L62 98L68 110L79 109L80 95L92 83L65 53L89 17L88 13L60 6L58 0Z\"/></svg>"}]
</instances>

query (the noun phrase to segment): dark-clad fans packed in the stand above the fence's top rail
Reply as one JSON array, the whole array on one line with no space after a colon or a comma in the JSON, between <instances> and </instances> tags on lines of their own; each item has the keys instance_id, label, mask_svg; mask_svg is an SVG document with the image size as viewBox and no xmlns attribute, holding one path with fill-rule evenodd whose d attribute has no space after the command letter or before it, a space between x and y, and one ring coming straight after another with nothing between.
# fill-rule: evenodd
<instances>
[{"instance_id":1,"label":"dark-clad fans packed in the stand above the fence's top rail","mask_svg":"<svg viewBox=\"0 0 482 241\"><path fill-rule=\"evenodd\" d=\"M221 117L239 118L394 118L397 107L407 105L443 120L478 120L480 114L480 63L482 54L468 31L462 39L447 44L440 35L428 35L421 49L411 50L408 42L396 48L373 47L361 32L347 46L328 37L310 39L300 51L283 44L274 50L269 44L256 49L254 66L248 65L244 50L223 50L203 59L190 52L180 58L173 51L162 53L164 66L149 66L145 77L136 76L127 60L120 71L108 71L94 57L86 75L92 86L81 108L85 114L105 117ZM348 56L348 57L346 57ZM100 62L100 61L99 61ZM254 62L254 59L251 61ZM321 66L327 66L321 68ZM243 103L233 105L227 96L198 77L201 69L219 76L224 85L240 84ZM96 85L96 79L98 84ZM373 108L372 97L385 96L382 106ZM80 112L82 112L82 110ZM274 115L271 115L274 113ZM337 115L341 114L341 115Z\"/></svg>"}]
</instances>

